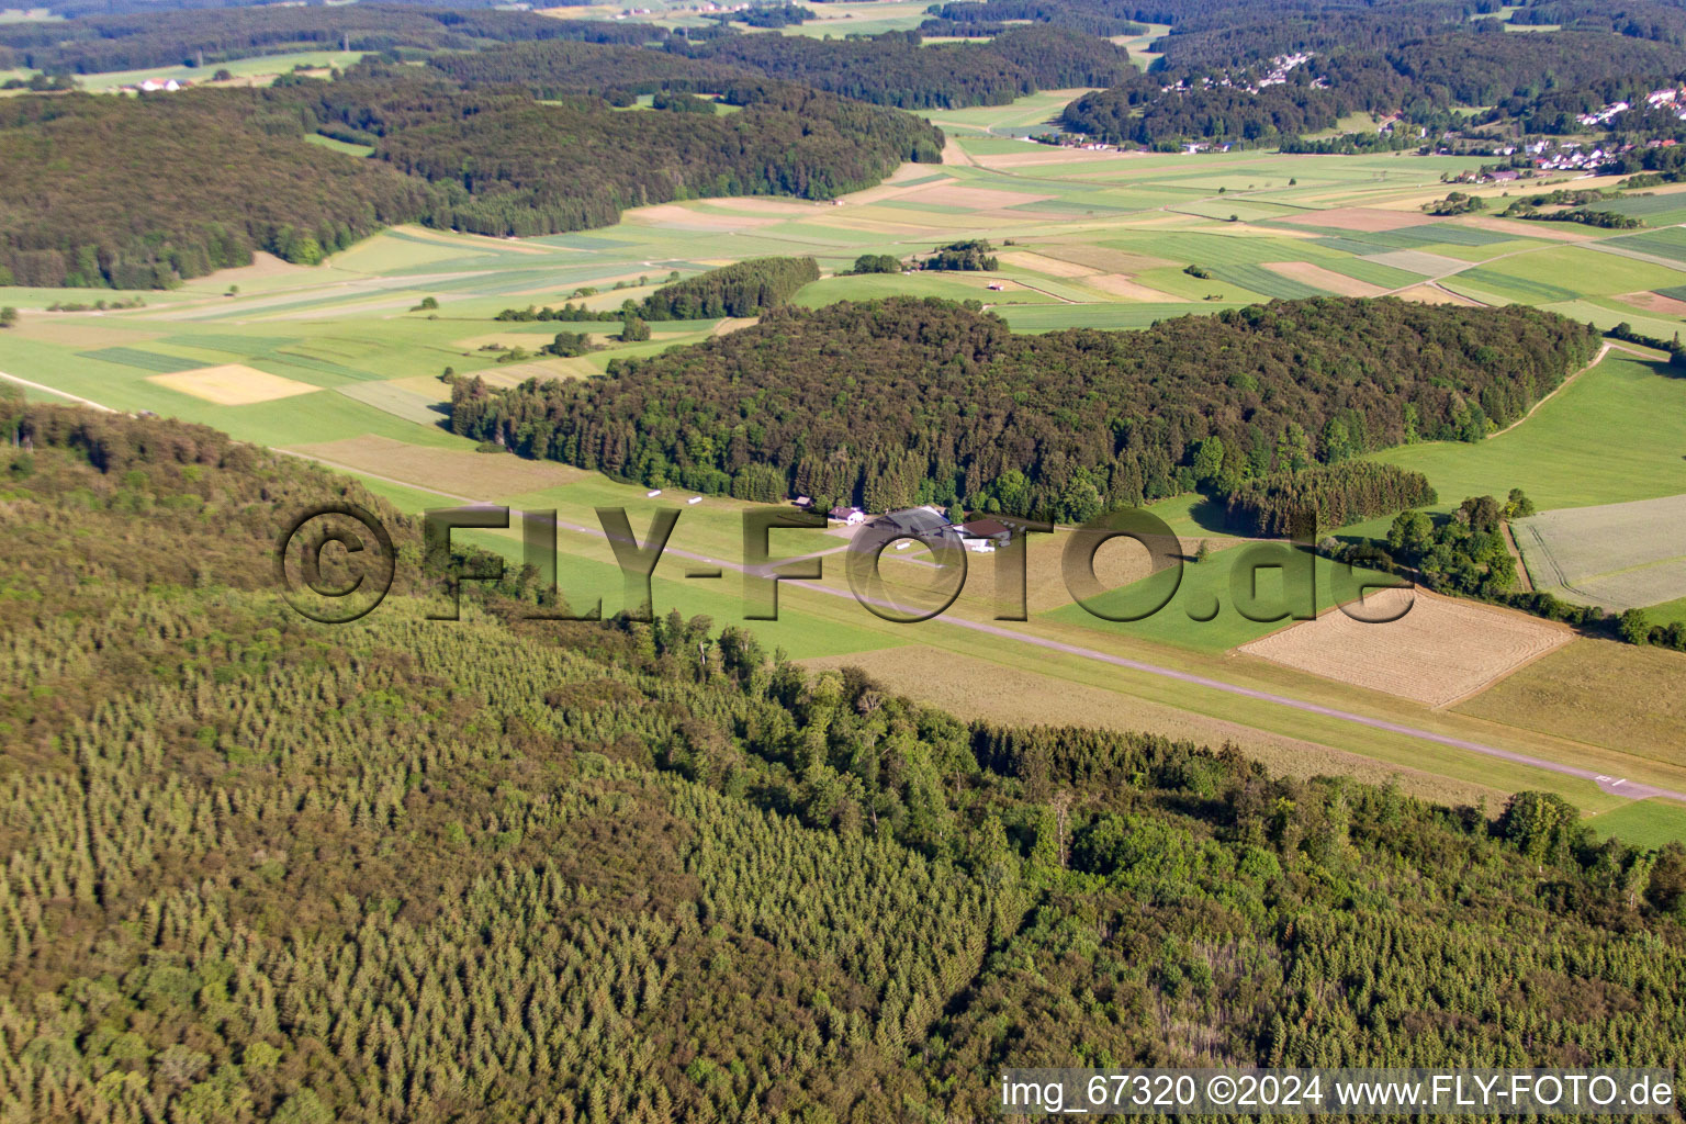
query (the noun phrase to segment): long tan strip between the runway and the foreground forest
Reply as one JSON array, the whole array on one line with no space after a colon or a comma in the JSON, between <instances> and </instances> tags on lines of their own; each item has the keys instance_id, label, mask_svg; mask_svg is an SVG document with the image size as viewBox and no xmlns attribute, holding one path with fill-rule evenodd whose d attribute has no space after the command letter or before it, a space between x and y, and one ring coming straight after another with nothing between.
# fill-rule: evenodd
<instances>
[{"instance_id":1,"label":"long tan strip between the runway and the foreground forest","mask_svg":"<svg viewBox=\"0 0 1686 1124\"><path fill-rule=\"evenodd\" d=\"M813 671L860 667L897 694L968 718L1022 726L1081 723L1104 730L1152 730L1168 738L1205 745L1232 743L1248 757L1293 777L1339 773L1377 785L1396 780L1403 792L1426 800L1474 804L1485 795L1489 804L1497 807L1509 795L1497 789L1253 730L1101 686L1072 682L1059 674L1039 674L944 649L905 645L801 662Z\"/></svg>"}]
</instances>

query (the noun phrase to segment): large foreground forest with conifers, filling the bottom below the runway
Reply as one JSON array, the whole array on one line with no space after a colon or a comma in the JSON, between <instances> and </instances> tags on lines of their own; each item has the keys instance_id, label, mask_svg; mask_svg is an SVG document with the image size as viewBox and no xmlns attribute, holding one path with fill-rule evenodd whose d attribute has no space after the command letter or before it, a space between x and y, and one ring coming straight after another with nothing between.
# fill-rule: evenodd
<instances>
[{"instance_id":1,"label":"large foreground forest with conifers, filling the bottom below the runway","mask_svg":"<svg viewBox=\"0 0 1686 1124\"><path fill-rule=\"evenodd\" d=\"M268 588L359 485L7 433L10 1119L993 1119L1010 1065L1686 1067L1686 853L1234 750L926 709L737 629L352 625ZM1501 809L1489 809L1497 814ZM1195 1028L1190 1031L1190 1028Z\"/></svg>"}]
</instances>

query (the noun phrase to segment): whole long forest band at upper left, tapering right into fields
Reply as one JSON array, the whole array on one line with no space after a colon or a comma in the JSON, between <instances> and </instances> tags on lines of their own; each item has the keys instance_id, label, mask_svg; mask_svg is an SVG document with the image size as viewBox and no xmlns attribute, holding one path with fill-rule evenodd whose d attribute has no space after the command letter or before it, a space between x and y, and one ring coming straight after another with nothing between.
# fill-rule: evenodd
<instances>
[{"instance_id":1,"label":"whole long forest band at upper left, tapering right into fields","mask_svg":"<svg viewBox=\"0 0 1686 1124\"><path fill-rule=\"evenodd\" d=\"M314 265L411 219L531 236L698 195L826 199L941 153L941 131L917 118L803 86L759 81L742 103L718 118L617 113L588 96L541 104L373 59L271 89L8 98L0 283L164 286L253 249ZM310 145L312 131L369 143L374 158ZM241 175L157 174L207 160Z\"/></svg>"}]
</instances>

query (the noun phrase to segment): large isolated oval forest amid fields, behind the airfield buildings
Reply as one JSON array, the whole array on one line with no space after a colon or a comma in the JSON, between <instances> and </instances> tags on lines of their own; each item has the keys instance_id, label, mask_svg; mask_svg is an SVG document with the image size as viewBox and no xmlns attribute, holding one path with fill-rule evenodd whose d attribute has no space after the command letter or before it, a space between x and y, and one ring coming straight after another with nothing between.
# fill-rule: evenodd
<instances>
[{"instance_id":1,"label":"large isolated oval forest amid fields, behind the airfield buildings","mask_svg":"<svg viewBox=\"0 0 1686 1124\"><path fill-rule=\"evenodd\" d=\"M459 379L452 426L651 487L1082 521L1214 479L1482 440L1597 344L1526 307L1329 297L1015 335L991 313L894 298L786 308L605 379Z\"/></svg>"}]
</instances>

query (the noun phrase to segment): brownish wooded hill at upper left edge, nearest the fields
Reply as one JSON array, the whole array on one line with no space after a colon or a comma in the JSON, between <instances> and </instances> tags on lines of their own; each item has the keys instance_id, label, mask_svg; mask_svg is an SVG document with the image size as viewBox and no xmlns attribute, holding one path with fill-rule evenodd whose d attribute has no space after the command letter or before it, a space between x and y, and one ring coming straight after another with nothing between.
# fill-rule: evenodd
<instances>
[{"instance_id":1,"label":"brownish wooded hill at upper left edge, nearest the fields","mask_svg":"<svg viewBox=\"0 0 1686 1124\"><path fill-rule=\"evenodd\" d=\"M194 167L239 175L169 172ZM314 265L428 206L427 184L305 143L278 94L0 99L3 285L164 288L253 249Z\"/></svg>"}]
</instances>

